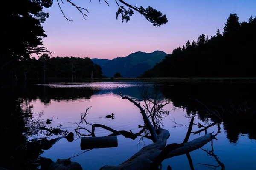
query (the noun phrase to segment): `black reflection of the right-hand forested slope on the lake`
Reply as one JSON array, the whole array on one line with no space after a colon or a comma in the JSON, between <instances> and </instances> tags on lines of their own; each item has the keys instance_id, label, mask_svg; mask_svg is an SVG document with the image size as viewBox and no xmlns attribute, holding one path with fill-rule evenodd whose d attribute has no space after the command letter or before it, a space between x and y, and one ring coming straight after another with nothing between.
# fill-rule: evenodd
<instances>
[{"instance_id":1,"label":"black reflection of the right-hand forested slope on the lake","mask_svg":"<svg viewBox=\"0 0 256 170\"><path fill-rule=\"evenodd\" d=\"M204 103L209 109L217 110L223 119L224 129L230 142L237 142L239 135L247 134L256 139L256 114L251 115L256 96L254 84L169 84L162 88L163 96L170 99L174 106L186 108L187 114L197 113L203 122L211 119L221 122L214 115L208 115ZM245 102L246 101L246 102ZM246 104L246 105L245 105ZM246 108L241 109L243 107ZM241 111L239 111L241 109ZM224 111L224 113L223 113ZM244 111L242 113L242 111ZM250 113L249 113L249 112Z\"/></svg>"}]
</instances>

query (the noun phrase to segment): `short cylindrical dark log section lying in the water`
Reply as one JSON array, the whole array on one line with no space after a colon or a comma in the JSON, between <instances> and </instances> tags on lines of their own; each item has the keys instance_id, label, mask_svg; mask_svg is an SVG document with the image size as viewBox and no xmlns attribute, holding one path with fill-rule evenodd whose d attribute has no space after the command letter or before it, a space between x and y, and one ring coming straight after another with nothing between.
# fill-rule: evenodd
<instances>
[{"instance_id":1,"label":"short cylindrical dark log section lying in the water","mask_svg":"<svg viewBox=\"0 0 256 170\"><path fill-rule=\"evenodd\" d=\"M93 148L117 147L116 136L105 137L81 137L81 150Z\"/></svg>"}]
</instances>

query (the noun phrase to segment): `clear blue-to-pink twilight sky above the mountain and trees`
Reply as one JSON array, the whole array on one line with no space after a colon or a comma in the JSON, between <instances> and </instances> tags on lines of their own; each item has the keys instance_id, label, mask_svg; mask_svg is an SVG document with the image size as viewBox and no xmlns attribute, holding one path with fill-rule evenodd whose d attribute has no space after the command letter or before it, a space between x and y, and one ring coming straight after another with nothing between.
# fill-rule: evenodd
<instances>
[{"instance_id":1,"label":"clear blue-to-pink twilight sky above the mountain and trees","mask_svg":"<svg viewBox=\"0 0 256 170\"><path fill-rule=\"evenodd\" d=\"M137 51L172 53L187 40L196 41L200 34L210 37L217 29L222 32L230 13L236 13L241 22L256 15L256 0L125 0L166 14L168 23L154 27L136 11L128 23L122 23L121 18L116 20L115 0L107 0L110 6L104 0L101 4L99 0L91 1L72 0L88 9L86 20L65 0L60 3L61 8L73 22L65 19L56 0L44 10L49 12L49 18L42 24L47 34L43 42L52 57L113 59Z\"/></svg>"}]
</instances>

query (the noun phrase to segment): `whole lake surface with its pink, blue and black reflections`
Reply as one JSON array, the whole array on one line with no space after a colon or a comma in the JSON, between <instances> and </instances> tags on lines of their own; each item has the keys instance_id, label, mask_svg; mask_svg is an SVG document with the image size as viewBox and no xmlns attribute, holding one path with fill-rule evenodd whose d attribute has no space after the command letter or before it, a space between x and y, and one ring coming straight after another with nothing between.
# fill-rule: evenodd
<instances>
[{"instance_id":1,"label":"whole lake surface with its pink, blue and black reflections","mask_svg":"<svg viewBox=\"0 0 256 170\"><path fill-rule=\"evenodd\" d=\"M81 119L81 113L84 113L86 107L92 106L90 113L87 115L86 124L84 127L91 130L91 123L98 123L112 127L117 131L131 130L133 133L139 133L144 136L148 134L147 130L143 129L143 120L139 114L139 110L127 101L120 99L117 86L120 87L122 93L130 96L137 102L143 102L137 85L146 85L149 91L154 88L154 83L143 82L111 82L111 83L58 83L50 85L27 85L26 88L17 88L12 92L11 90L5 91L1 99L2 108L6 105L12 105L9 113L6 116L6 120L1 119L1 128L3 130L1 139L9 139L8 141L16 141L15 145L10 146L6 141L5 146L10 146L7 149L3 149L6 159L1 163L2 167L8 167L9 169L17 169L22 165L22 169L33 169L38 166L39 156L51 158L56 161L58 158L69 158L72 155L81 153L80 141L76 140L77 136L75 129ZM61 87L60 87L61 86ZM190 136L191 140L195 139L199 135L205 133L205 129L208 132L215 131L219 133L217 136L218 141L214 141L215 150L210 152L213 148L210 145L206 145L203 149L208 149L210 154L218 154L219 161L225 164L227 169L243 168L242 164L249 164L245 169L256 168L253 164L255 159L255 135L256 131L253 125L256 123L256 118L253 111L255 99L254 85L193 85L193 84L168 84L162 85L159 98L161 101L168 102L170 105L166 105L165 109L171 111L166 117L163 116L157 126L162 126L168 129L171 133L171 137L168 143L180 143L182 138L186 136L186 127L172 128L176 124L172 122L175 117L175 122L188 125L189 119L195 116L195 124ZM10 94L12 93L12 94ZM200 102L198 102L198 101ZM246 102L246 105L244 105ZM21 105L20 105L21 104ZM219 117L214 114L207 113L207 108L216 113L219 113ZM173 110L175 109L176 110ZM244 110L246 109L246 111ZM183 111L184 109L184 111ZM224 112L223 112L224 110ZM173 112L175 111L175 112ZM237 113L237 111L239 113ZM230 113L231 112L231 113ZM33 113L32 116L30 113ZM114 113L115 119L107 119L106 115ZM183 115L188 116L187 119ZM32 118L32 119L31 119ZM47 125L47 119L51 119L52 123ZM63 136L55 136L53 133L49 137L45 133L40 131L39 127L45 127L49 129L58 129L59 125L61 130L66 130L69 133L75 133L75 140L68 142L63 140ZM138 128L138 125L142 128ZM49 127L50 126L50 127ZM39 130L38 130L39 129ZM42 129L41 129L42 130ZM44 130L47 131L47 130ZM226 133L226 136L221 133ZM15 134L14 134L15 133ZM123 132L119 132L123 133ZM81 134L85 134L84 132ZM104 129L96 128L96 134L100 136L111 136L111 134ZM114 134L116 135L116 134ZM113 136L113 134L112 134ZM47 137L47 138L44 138ZM49 150L45 150L42 154L40 142L43 140L50 142L55 139L55 143L51 145ZM57 138L61 140L57 141ZM235 144L236 146L230 146L226 142ZM249 139L252 139L249 140ZM29 142L30 140L30 142ZM150 144L149 139L143 139L145 145ZM138 145L139 138L131 140L122 136L118 136L117 148L105 148L100 150L91 150L88 153L84 153L81 156L77 156L72 161L79 162L82 167L88 169L99 169L100 167L110 164L118 165L140 150L143 146ZM16 149L18 148L18 149ZM65 148L65 150L63 150ZM227 150L229 148L229 150ZM243 152L244 156L248 159L243 159L239 153ZM190 158L193 160L195 169L204 170L207 167L200 164L214 164L216 159L208 159L205 151L196 150L190 153ZM23 156L26 155L26 156ZM102 157L113 156L112 159L101 159L97 155ZM233 164L228 157L236 156L236 164ZM189 156L178 156L163 161L163 169L166 169L168 165L171 165L173 169L188 169L191 162ZM11 159L9 159L11 158ZM199 159L200 158L200 159ZM86 162L84 160L87 160ZM178 160L178 161L177 161ZM15 163L14 163L15 162ZM180 165L179 162L184 162ZM185 163L187 162L187 163ZM218 161L217 161L218 163ZM215 168L215 167L214 167ZM221 165L217 169L223 168Z\"/></svg>"}]
</instances>

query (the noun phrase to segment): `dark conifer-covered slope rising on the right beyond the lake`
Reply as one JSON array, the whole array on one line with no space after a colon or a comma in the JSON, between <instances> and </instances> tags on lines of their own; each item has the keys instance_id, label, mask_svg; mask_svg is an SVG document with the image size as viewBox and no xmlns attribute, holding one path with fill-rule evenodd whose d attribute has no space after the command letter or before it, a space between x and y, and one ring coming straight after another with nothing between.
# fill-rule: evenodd
<instances>
[{"instance_id":1,"label":"dark conifer-covered slope rising on the right beyond the lake","mask_svg":"<svg viewBox=\"0 0 256 170\"><path fill-rule=\"evenodd\" d=\"M141 77L256 77L256 17L230 14L223 34L204 34L173 50Z\"/></svg>"}]
</instances>

